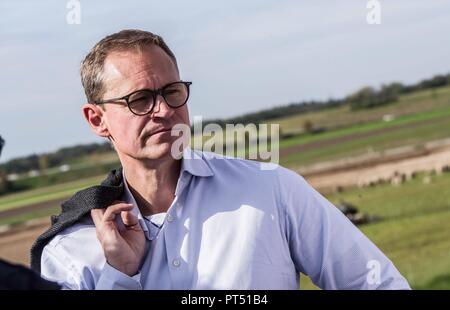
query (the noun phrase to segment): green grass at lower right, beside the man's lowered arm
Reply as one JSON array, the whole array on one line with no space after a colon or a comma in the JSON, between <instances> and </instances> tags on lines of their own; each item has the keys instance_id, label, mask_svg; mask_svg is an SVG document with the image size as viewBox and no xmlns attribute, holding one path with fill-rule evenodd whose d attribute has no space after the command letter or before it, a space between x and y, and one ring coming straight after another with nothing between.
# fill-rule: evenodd
<instances>
[{"instance_id":1,"label":"green grass at lower right, beside the man's lowered arm","mask_svg":"<svg viewBox=\"0 0 450 310\"><path fill-rule=\"evenodd\" d=\"M328 195L336 203L346 201L381 221L360 226L396 265L415 289L450 289L450 174L424 175L400 187L389 184ZM314 289L309 278L301 287Z\"/></svg>"}]
</instances>

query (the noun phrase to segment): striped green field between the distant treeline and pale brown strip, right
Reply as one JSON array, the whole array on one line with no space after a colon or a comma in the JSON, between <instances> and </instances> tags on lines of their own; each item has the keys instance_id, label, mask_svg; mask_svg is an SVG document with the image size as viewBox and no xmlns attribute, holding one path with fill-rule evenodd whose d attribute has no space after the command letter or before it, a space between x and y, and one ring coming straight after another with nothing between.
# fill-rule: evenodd
<instances>
[{"instance_id":1,"label":"striped green field between the distant treeline and pale brown strip, right","mask_svg":"<svg viewBox=\"0 0 450 310\"><path fill-rule=\"evenodd\" d=\"M394 120L384 121L387 114ZM301 132L306 120L323 131ZM450 87L404 95L394 104L368 110L351 111L341 106L267 123L279 123L284 134L292 133L279 145L281 154L285 154L280 163L290 168L406 145L420 148L426 142L450 138ZM208 139L203 137L203 142ZM313 143L319 146L308 147ZM307 149L296 151L299 147ZM245 157L247 152L248 148L235 154Z\"/></svg>"}]
</instances>

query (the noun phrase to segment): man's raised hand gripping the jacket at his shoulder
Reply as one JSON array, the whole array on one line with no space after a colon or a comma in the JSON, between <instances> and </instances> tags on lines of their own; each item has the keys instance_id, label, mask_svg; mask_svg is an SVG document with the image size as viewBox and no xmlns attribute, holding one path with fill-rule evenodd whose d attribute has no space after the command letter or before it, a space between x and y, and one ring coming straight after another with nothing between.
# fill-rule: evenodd
<instances>
[{"instance_id":1,"label":"man's raised hand gripping the jacket at his shoulder","mask_svg":"<svg viewBox=\"0 0 450 310\"><path fill-rule=\"evenodd\" d=\"M106 209L91 210L97 238L102 245L106 261L117 270L134 276L145 252L145 236L136 216L131 213L133 205L114 201ZM119 231L116 216L120 215L125 230Z\"/></svg>"}]
</instances>

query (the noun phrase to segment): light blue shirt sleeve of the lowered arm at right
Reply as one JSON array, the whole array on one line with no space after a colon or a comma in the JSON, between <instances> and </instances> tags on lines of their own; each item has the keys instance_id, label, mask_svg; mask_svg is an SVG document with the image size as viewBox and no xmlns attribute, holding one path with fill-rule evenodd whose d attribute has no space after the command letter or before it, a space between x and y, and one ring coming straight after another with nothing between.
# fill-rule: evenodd
<instances>
[{"instance_id":1,"label":"light blue shirt sleeve of the lowered arm at right","mask_svg":"<svg viewBox=\"0 0 450 310\"><path fill-rule=\"evenodd\" d=\"M394 264L303 177L278 169L285 232L298 271L322 289L410 289Z\"/></svg>"}]
</instances>

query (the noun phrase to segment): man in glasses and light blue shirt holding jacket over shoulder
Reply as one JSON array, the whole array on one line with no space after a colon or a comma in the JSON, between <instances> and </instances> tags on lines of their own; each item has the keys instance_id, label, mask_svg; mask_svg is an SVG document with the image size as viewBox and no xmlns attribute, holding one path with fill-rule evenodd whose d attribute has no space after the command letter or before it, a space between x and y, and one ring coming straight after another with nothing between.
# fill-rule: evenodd
<instances>
[{"instance_id":1,"label":"man in glasses and light blue shirt holding jacket over shoulder","mask_svg":"<svg viewBox=\"0 0 450 310\"><path fill-rule=\"evenodd\" d=\"M32 266L68 289L409 289L391 261L298 174L180 150L190 83L150 32L124 30L81 67L91 129L122 169L63 204Z\"/></svg>"}]
</instances>

